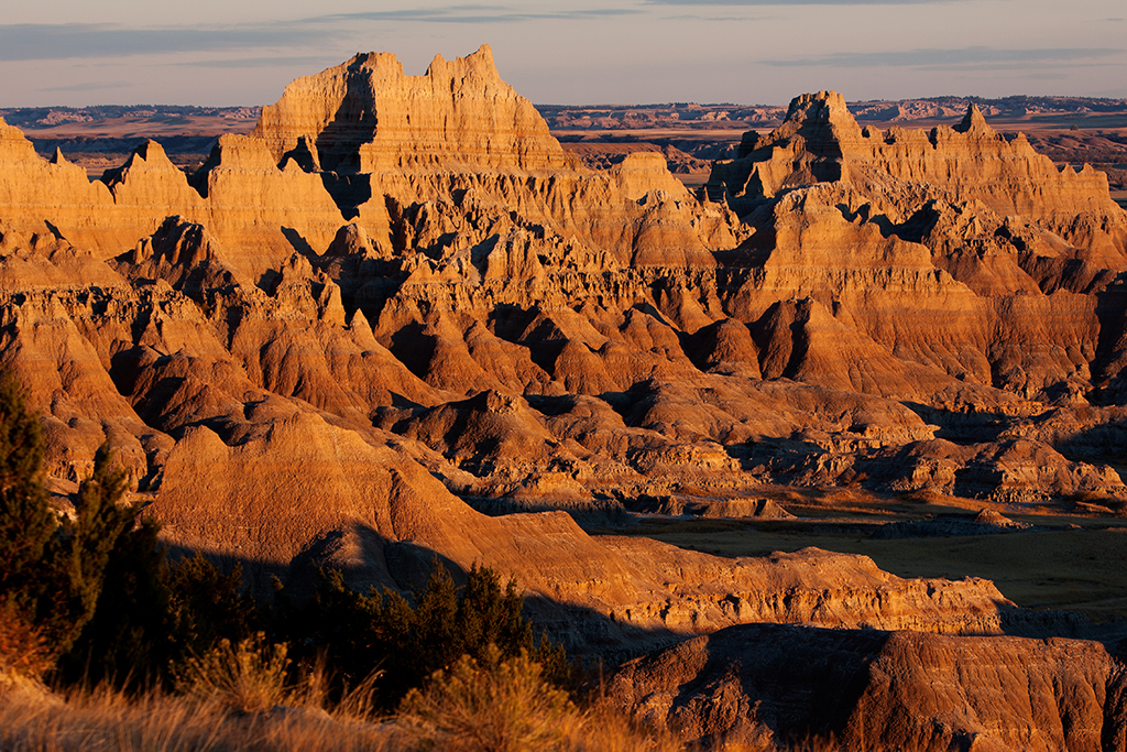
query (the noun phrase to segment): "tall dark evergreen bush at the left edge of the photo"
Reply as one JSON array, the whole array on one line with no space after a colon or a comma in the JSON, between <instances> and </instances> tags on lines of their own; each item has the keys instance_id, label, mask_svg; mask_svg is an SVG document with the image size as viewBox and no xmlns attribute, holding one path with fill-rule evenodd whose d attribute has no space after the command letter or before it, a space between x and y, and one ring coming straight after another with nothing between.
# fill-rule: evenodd
<instances>
[{"instance_id":1,"label":"tall dark evergreen bush at the left edge of the photo","mask_svg":"<svg viewBox=\"0 0 1127 752\"><path fill-rule=\"evenodd\" d=\"M219 639L245 639L254 604L238 572L204 559L169 567L158 527L121 503L107 446L59 514L44 486L38 418L0 377L0 666L117 685L167 684L168 666Z\"/></svg>"}]
</instances>

